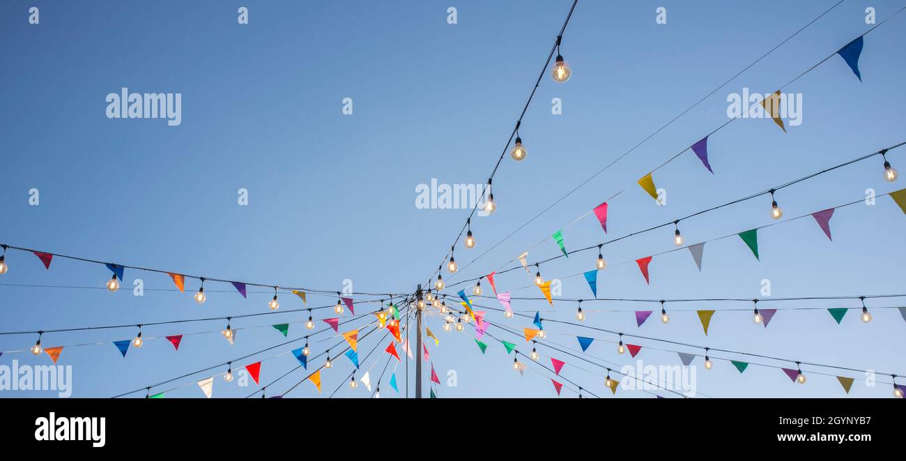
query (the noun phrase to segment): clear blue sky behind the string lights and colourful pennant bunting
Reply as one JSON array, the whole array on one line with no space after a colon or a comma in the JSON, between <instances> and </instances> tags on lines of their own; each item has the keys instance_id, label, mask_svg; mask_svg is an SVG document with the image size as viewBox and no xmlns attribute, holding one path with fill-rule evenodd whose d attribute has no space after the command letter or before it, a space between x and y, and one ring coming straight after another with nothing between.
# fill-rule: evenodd
<instances>
[{"instance_id":1,"label":"clear blue sky behind the string lights and colourful pennant bunting","mask_svg":"<svg viewBox=\"0 0 906 461\"><path fill-rule=\"evenodd\" d=\"M506 156L494 181L498 211L474 220L478 244L473 250L458 245L460 266L834 3L580 1L562 46L573 77L564 84L549 76L542 80L520 129L528 157L516 163ZM28 24L32 5L40 8L39 25ZM355 291L410 292L437 268L468 214L418 209L416 188L432 179L446 184L487 181L569 5L567 0L3 2L0 242L226 280L336 290L343 288L343 280L352 280ZM237 24L239 6L248 7L248 25ZM456 25L447 23L448 6L458 9ZM667 8L666 25L655 24L658 6ZM744 88L771 93L870 28L864 20L867 6L876 9L881 21L902 5L846 0L554 209L457 276L445 278L487 274L545 238L530 250L529 261L555 256L559 250L549 236L557 230L564 230L567 250L593 245L904 141L906 15L899 15L865 37L862 83L834 56L785 89L801 94L800 125L788 126L784 133L764 119L729 124L709 142L716 174L707 172L691 152L655 174L657 186L668 191L666 206L657 206L635 185L645 172L725 123L728 93ZM108 119L105 98L123 87L181 93L181 124ZM342 113L344 98L352 98L352 115ZM562 100L560 115L552 113L553 98ZM906 168L901 151L888 157L894 166ZM777 194L777 201L786 216L795 217L857 201L868 188L884 193L902 184L902 179L882 181L882 161L876 157L790 187ZM40 191L38 206L29 204L32 188ZM241 188L249 193L247 206L237 204ZM620 191L610 202L609 234L603 234L593 216L567 227ZM681 230L689 243L710 240L772 222L769 209L769 198L762 197L683 221ZM686 250L676 251L651 262L651 285L631 262L602 271L599 296L757 297L765 299L759 303L763 308L854 307L857 300L768 298L903 292L904 226L902 212L882 197L875 206L836 211L833 243L811 219L798 220L759 232L760 261L741 240L719 240L706 245L700 273ZM617 263L670 250L672 233L664 228L613 243L605 247L605 256ZM595 257L593 251L580 253L545 264L542 272L547 279L562 280L562 297L587 299L591 293L585 281L566 276L593 269ZM243 299L228 285L211 283L206 285L207 303L198 306L191 296L197 280L188 280L183 294L165 275L127 270L123 288L111 294L103 289L110 272L101 265L54 260L44 270L33 255L14 250L7 252L6 261L10 270L0 277L3 331L264 312L271 296L250 288ZM143 297L132 295L136 278L144 280ZM496 284L515 297L538 297L531 279L515 270L499 276ZM770 297L760 293L762 280L771 281ZM487 284L485 289L490 291ZM455 290L449 294L455 296ZM312 295L309 306L335 300ZM487 305L497 307L496 301ZM869 305L902 303L880 299ZM281 306L303 307L286 294ZM541 310L551 319L573 320L575 312L573 303L557 301L554 308L545 301L514 301L513 306L530 314ZM767 329L752 323L750 311L718 311L707 337L694 312L749 307L674 305L669 324L652 316L637 328L631 310L659 309L656 303L583 303L585 323L602 329L804 362L906 371L901 349L895 348L906 330L897 309L872 310L869 324L859 321L858 311L850 311L839 326L824 310L779 311ZM315 319L329 312L322 310ZM287 313L236 320L233 326L306 317ZM504 319L498 312L488 319L518 330L530 326L529 319ZM144 334L209 331L223 323L162 326ZM530 364L532 371L520 377L512 369L512 357L492 339L487 338L490 348L482 356L471 329L444 333L437 316L429 317L428 326L440 338L431 359L441 380L447 381L449 370L457 378L456 387L439 387L440 397L555 396L549 372ZM614 340L612 335L551 322L545 329L551 333L547 340L570 349L577 348L577 334L598 338L588 350L593 361L635 363L605 342ZM109 341L132 338L135 331L55 333L45 335L43 344L106 343L65 348L59 363L72 365L73 396L109 397L285 340L266 327L241 332L232 347L219 334L208 333L183 338L178 351L157 339L120 357ZM524 339L500 329L492 327L489 333L515 342L521 352L530 350ZM303 334L301 325L290 327L290 339ZM364 357L377 336L380 348L362 363L362 371L371 369L372 381L384 368L388 356L381 349L389 340L379 332L360 345ZM315 352L338 341L324 333L317 338L323 342L313 344ZM0 336L0 350L28 348L34 339ZM701 353L650 340L635 342ZM235 368L298 347L300 342L276 348ZM566 379L560 381L568 388L575 386L567 379L604 395L602 368L541 346L539 352L548 367L551 355L567 363ZM714 356L795 368L788 362ZM644 365L679 363L673 352L645 348L638 358ZM14 359L50 363L46 355L6 352L0 365ZM312 365L321 362L319 358ZM323 396L352 370L346 358L336 364L323 373ZM295 365L288 354L266 360L262 384ZM814 375L805 386L796 386L776 368L753 365L740 375L728 362L717 361L714 369L699 369L697 387L699 394L711 397L845 396L833 376L817 374L832 371L803 368ZM245 397L258 388L254 383L245 388L236 381L226 384L219 378L223 371L217 370L215 397ZM401 373L403 366L397 368L400 390ZM866 387L860 373L840 374L857 378L852 397L891 395L889 385ZM390 370L385 383L389 376ZM302 372L295 371L268 388L268 395L284 392L301 378ZM889 382L890 377L879 379ZM0 397L51 395L0 391ZM344 386L337 395L367 393ZM575 392L564 389L563 395L575 397ZM384 384L381 396L396 394ZM647 395L620 391L618 396ZM168 397L202 393L192 385L172 390ZM287 397L317 393L303 383Z\"/></svg>"}]
</instances>

